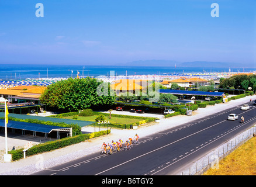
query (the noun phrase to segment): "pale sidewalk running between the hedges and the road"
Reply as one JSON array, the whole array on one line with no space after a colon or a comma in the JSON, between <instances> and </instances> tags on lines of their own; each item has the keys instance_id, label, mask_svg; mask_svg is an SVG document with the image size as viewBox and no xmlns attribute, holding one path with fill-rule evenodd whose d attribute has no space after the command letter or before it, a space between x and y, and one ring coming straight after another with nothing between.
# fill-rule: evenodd
<instances>
[{"instance_id":1,"label":"pale sidewalk running between the hedges and the road","mask_svg":"<svg viewBox=\"0 0 256 187\"><path fill-rule=\"evenodd\" d=\"M170 129L175 126L187 123L192 120L199 119L220 112L225 109L233 108L236 105L243 105L252 99L254 101L256 96L246 96L245 98L231 100L228 103L220 103L215 106L207 106L206 108L198 108L193 111L192 116L173 116L168 119L160 119L160 123L150 123L145 126L140 126L136 130L120 130L111 129L111 133L105 136L93 138L79 144L60 148L58 150L33 155L26 159L21 159L13 162L0 163L0 175L29 175L40 171L44 168L54 167L54 165L63 164L86 155L100 152L102 143L110 143L112 140L118 141L121 138L126 141L129 137L134 137L134 134L139 134L140 137L147 137L150 134L158 131ZM94 127L83 127L82 131L94 131ZM2 153L2 152L1 152Z\"/></svg>"}]
</instances>

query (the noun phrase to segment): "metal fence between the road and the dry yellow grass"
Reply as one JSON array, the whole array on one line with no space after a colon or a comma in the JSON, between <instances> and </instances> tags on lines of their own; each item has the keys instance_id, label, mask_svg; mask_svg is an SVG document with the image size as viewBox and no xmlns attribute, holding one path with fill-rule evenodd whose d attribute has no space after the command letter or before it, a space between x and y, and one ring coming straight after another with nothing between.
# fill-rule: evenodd
<instances>
[{"instance_id":1,"label":"metal fence between the road and the dry yellow grass","mask_svg":"<svg viewBox=\"0 0 256 187\"><path fill-rule=\"evenodd\" d=\"M219 168L219 161L222 160L222 158L236 150L236 148L249 140L255 133L256 125L216 148L211 153L205 155L205 157L200 158L200 160L189 166L188 169L182 171L180 175L202 175L209 168Z\"/></svg>"}]
</instances>

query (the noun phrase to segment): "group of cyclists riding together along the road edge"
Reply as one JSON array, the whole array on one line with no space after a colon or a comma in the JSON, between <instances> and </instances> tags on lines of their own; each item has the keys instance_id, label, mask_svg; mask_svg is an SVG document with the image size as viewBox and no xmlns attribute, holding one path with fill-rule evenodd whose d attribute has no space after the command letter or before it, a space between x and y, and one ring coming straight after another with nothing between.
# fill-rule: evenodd
<instances>
[{"instance_id":1,"label":"group of cyclists riding together along the road edge","mask_svg":"<svg viewBox=\"0 0 256 187\"><path fill-rule=\"evenodd\" d=\"M134 141L135 144L139 143L139 136L138 134L135 134L134 136ZM133 143L133 139L129 138L128 140L126 140L126 142L124 143L124 150L129 150L130 147L132 146ZM123 147L123 140L119 139L119 141L113 141L109 144L106 144L105 142L103 142L102 146L101 146L101 154L112 154L113 152L116 151L120 151L120 149Z\"/></svg>"}]
</instances>

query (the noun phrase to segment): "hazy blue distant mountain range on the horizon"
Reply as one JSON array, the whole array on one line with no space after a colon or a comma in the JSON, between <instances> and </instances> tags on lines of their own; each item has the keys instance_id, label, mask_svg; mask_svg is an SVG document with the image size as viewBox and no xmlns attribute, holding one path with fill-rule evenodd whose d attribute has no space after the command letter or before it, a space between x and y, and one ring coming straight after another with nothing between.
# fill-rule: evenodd
<instances>
[{"instance_id":1,"label":"hazy blue distant mountain range on the horizon","mask_svg":"<svg viewBox=\"0 0 256 187\"><path fill-rule=\"evenodd\" d=\"M193 62L178 62L174 60L138 60L127 63L131 66L168 66L168 67L225 67L225 68L243 68L244 64L238 63L220 63L209 61L193 61Z\"/></svg>"}]
</instances>

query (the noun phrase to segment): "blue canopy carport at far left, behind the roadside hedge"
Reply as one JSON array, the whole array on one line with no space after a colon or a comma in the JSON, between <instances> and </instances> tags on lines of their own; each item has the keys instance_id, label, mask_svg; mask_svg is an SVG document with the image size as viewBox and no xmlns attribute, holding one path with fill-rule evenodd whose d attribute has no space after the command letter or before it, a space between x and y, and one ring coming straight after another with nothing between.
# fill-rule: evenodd
<instances>
[{"instance_id":1,"label":"blue canopy carport at far left, behind the roadside hedge","mask_svg":"<svg viewBox=\"0 0 256 187\"><path fill-rule=\"evenodd\" d=\"M0 127L5 127L4 120L0 120ZM60 138L60 131L70 134L70 137L72 136L72 128L51 126L46 124L16 122L9 120L7 128L12 129L12 131L14 131L15 129L22 130L22 134L25 134L25 130L33 131L33 136L36 136L37 132L44 133L44 137L47 137L47 134L50 134L52 131L56 131L57 139Z\"/></svg>"}]
</instances>

